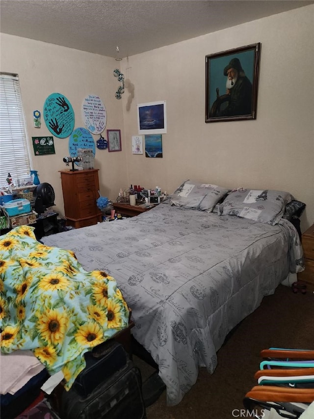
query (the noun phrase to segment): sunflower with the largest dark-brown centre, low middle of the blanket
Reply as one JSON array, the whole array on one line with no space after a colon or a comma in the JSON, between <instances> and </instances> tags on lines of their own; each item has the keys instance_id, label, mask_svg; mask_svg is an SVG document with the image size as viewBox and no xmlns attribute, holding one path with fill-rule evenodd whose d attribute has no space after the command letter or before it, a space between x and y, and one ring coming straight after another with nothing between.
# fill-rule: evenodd
<instances>
[{"instance_id":1,"label":"sunflower with the largest dark-brown centre, low middle of the blanket","mask_svg":"<svg viewBox=\"0 0 314 419\"><path fill-rule=\"evenodd\" d=\"M38 317L36 329L41 337L52 345L62 343L69 323L67 312L65 310L48 309Z\"/></svg>"}]
</instances>

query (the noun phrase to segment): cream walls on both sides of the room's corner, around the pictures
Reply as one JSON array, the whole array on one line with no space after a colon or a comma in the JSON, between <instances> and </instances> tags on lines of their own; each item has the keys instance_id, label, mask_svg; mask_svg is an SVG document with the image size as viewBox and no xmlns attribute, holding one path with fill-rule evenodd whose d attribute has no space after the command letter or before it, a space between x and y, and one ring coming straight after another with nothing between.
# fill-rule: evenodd
<instances>
[{"instance_id":1,"label":"cream walls on both sides of the room's corner, around the pictures","mask_svg":"<svg viewBox=\"0 0 314 419\"><path fill-rule=\"evenodd\" d=\"M108 113L106 129L121 129L122 152L96 151L102 195L114 199L120 187L158 185L172 192L193 178L226 187L280 189L307 204L302 230L314 223L314 5L131 56L120 62L126 89L114 94L113 58L1 34L1 71L20 76L29 139L50 135L42 110L53 92L64 94L83 127L81 104L97 94ZM262 43L257 119L205 123L205 56ZM132 97L132 88L133 95ZM131 152L137 135L136 104L167 101L163 158ZM105 135L104 135L105 136ZM94 136L97 140L99 136ZM52 184L63 212L60 176L68 139L54 139L56 154L33 157L41 182ZM32 150L32 146L31 146Z\"/></svg>"}]
</instances>

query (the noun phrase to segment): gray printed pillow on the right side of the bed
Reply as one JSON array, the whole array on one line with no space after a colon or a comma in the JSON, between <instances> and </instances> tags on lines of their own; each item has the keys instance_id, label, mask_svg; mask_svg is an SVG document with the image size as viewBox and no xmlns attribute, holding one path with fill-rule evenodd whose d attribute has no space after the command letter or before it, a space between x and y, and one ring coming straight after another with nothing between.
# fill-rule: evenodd
<instances>
[{"instance_id":1,"label":"gray printed pillow on the right side of the bed","mask_svg":"<svg viewBox=\"0 0 314 419\"><path fill-rule=\"evenodd\" d=\"M226 197L219 205L218 213L275 225L292 199L293 196L288 192L240 188Z\"/></svg>"}]
</instances>

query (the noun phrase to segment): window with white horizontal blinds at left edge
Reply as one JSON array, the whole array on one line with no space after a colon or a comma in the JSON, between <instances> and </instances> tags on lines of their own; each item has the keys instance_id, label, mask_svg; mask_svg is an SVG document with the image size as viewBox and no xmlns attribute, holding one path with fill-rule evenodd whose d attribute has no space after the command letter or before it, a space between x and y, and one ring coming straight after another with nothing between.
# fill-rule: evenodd
<instances>
[{"instance_id":1,"label":"window with white horizontal blinds at left edge","mask_svg":"<svg viewBox=\"0 0 314 419\"><path fill-rule=\"evenodd\" d=\"M19 76L0 73L0 186L29 174L30 156Z\"/></svg>"}]
</instances>

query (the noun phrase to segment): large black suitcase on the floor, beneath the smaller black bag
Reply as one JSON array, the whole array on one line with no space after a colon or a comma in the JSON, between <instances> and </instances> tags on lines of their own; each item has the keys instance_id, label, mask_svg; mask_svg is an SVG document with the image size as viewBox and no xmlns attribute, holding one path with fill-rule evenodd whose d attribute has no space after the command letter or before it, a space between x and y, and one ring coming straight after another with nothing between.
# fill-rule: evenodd
<instances>
[{"instance_id":1,"label":"large black suitcase on the floor, beneath the smaller black bag","mask_svg":"<svg viewBox=\"0 0 314 419\"><path fill-rule=\"evenodd\" d=\"M75 386L63 391L57 414L62 419L145 419L142 379L131 360L106 377L87 397Z\"/></svg>"}]
</instances>

